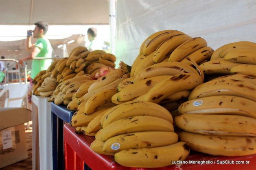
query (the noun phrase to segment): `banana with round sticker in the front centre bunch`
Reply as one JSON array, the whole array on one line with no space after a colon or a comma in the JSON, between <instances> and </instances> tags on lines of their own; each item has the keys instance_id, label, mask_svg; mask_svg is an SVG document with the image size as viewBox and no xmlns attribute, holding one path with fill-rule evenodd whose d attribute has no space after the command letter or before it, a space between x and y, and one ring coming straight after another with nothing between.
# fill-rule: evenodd
<instances>
[{"instance_id":1,"label":"banana with round sticker in the front centre bunch","mask_svg":"<svg viewBox=\"0 0 256 170\"><path fill-rule=\"evenodd\" d=\"M105 141L103 151L117 153L124 149L162 147L178 142L174 132L135 132L114 136Z\"/></svg>"}]
</instances>

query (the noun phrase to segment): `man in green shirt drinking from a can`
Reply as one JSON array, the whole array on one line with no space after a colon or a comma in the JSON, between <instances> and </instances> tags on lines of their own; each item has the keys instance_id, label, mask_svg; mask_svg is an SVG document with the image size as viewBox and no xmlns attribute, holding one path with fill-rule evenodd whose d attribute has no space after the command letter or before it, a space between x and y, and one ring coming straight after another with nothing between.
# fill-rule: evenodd
<instances>
[{"instance_id":1,"label":"man in green shirt drinking from a can","mask_svg":"<svg viewBox=\"0 0 256 170\"><path fill-rule=\"evenodd\" d=\"M23 64L23 62L33 59L35 57L52 57L52 47L50 45L50 41L45 38L45 34L48 30L48 24L46 22L36 22L35 29L28 30L27 39L26 39L26 50L31 52L27 57L22 58L19 62ZM35 44L31 43L31 37L37 38L37 42ZM47 70L50 66L51 60L33 60L31 67L31 78L34 77L42 70Z\"/></svg>"}]
</instances>

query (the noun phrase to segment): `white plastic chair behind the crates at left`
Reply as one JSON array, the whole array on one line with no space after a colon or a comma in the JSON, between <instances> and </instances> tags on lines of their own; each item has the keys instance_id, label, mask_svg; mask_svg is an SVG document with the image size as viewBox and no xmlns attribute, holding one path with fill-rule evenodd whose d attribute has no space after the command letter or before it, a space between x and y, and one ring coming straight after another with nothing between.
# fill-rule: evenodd
<instances>
[{"instance_id":1,"label":"white plastic chair behind the crates at left","mask_svg":"<svg viewBox=\"0 0 256 170\"><path fill-rule=\"evenodd\" d=\"M25 84L7 85L0 92L0 97L9 91L9 98L5 99L4 107L21 107L23 99L26 98L28 87Z\"/></svg>"}]
</instances>

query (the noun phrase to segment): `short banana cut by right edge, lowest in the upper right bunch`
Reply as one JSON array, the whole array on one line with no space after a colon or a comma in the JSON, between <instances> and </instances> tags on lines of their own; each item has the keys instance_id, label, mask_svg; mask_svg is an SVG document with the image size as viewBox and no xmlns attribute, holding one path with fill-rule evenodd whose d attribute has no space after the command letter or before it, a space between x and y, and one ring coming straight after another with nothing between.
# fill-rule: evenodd
<instances>
[{"instance_id":1,"label":"short banana cut by right edge, lowest in the upper right bunch","mask_svg":"<svg viewBox=\"0 0 256 170\"><path fill-rule=\"evenodd\" d=\"M231 73L244 74L256 78L256 65L240 64L230 69Z\"/></svg>"}]
</instances>

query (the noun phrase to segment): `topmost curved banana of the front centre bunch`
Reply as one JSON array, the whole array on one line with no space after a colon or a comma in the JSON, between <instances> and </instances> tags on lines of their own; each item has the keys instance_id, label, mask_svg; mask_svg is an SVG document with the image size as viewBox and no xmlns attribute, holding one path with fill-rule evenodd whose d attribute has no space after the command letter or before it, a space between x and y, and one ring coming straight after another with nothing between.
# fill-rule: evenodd
<instances>
[{"instance_id":1,"label":"topmost curved banana of the front centre bunch","mask_svg":"<svg viewBox=\"0 0 256 170\"><path fill-rule=\"evenodd\" d=\"M114 121L134 116L159 117L173 123L171 114L162 106L146 101L131 101L108 110L104 115L102 127L104 128Z\"/></svg>"}]
</instances>

